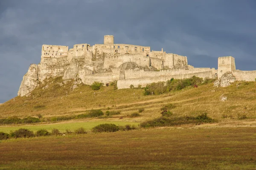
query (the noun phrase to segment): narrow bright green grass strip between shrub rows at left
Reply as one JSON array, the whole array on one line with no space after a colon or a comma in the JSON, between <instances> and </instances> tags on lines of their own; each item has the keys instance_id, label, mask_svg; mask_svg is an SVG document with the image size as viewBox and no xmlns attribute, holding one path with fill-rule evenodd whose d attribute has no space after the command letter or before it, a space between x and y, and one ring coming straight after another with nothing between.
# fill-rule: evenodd
<instances>
[{"instance_id":1,"label":"narrow bright green grass strip between shrub rows at left","mask_svg":"<svg viewBox=\"0 0 256 170\"><path fill-rule=\"evenodd\" d=\"M0 132L4 132L4 133L10 133L10 131L15 131L18 130L20 128L26 128L32 131L37 131L40 129L46 129L48 131L51 131L53 128L56 128L58 130L60 130L61 132L65 132L66 129L69 129L71 131L74 131L75 129L79 128L79 127L84 127L85 130L89 131L91 130L93 127L99 125L99 124L104 124L104 123L112 123L115 125L138 125L139 123L137 122L117 122L117 121L99 121L99 122L69 122L69 123L56 123L56 124L44 124L44 125L21 125L21 126L0 126Z\"/></svg>"}]
</instances>

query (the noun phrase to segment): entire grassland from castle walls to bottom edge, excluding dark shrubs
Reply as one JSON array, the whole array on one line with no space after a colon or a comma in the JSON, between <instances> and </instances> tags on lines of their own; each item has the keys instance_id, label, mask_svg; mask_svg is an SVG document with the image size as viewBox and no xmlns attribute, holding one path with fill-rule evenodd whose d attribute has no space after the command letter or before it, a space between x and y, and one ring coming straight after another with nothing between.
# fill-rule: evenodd
<instances>
[{"instance_id":1,"label":"entire grassland from castle walls to bottom edge, excluding dark shrubs","mask_svg":"<svg viewBox=\"0 0 256 170\"><path fill-rule=\"evenodd\" d=\"M161 116L160 108L172 104L173 116L207 113L212 124L139 128L114 133L46 136L0 141L0 170L58 169L256 169L256 82L237 82L226 88L213 84L185 88L167 94L144 96L144 89L113 90L88 85L72 90L73 82L48 79L28 97L15 97L0 105L0 119L38 115L50 120L91 109L119 111L114 116L35 124L0 125L0 132L18 128L34 132L57 128L90 130L101 123L138 125ZM95 93L95 94L94 94ZM227 101L221 102L220 97ZM144 109L139 117L131 117Z\"/></svg>"}]
</instances>

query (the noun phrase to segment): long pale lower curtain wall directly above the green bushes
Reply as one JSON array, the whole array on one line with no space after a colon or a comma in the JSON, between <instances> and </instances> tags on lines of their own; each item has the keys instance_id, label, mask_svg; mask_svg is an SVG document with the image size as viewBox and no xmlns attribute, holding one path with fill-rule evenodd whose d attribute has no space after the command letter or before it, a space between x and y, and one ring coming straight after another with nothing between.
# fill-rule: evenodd
<instances>
[{"instance_id":1,"label":"long pale lower curtain wall directly above the green bushes","mask_svg":"<svg viewBox=\"0 0 256 170\"><path fill-rule=\"evenodd\" d=\"M117 88L130 88L130 85L134 85L134 87L138 87L138 85L142 85L145 87L147 84L152 82L166 82L169 79L185 79L190 78L193 76L201 77L201 78L214 78L212 75L212 71L204 71L201 73L192 73L192 74L178 74L178 75L171 75L171 76L157 76L157 77L142 77L142 78L135 78L135 79L122 79L117 80Z\"/></svg>"}]
</instances>

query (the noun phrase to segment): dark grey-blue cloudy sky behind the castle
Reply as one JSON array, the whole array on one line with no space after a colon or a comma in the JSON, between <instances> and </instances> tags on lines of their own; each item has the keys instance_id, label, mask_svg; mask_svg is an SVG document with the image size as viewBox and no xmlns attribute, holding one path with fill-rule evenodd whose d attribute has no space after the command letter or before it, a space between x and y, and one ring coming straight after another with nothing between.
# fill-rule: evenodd
<instances>
[{"instance_id":1,"label":"dark grey-blue cloudy sky behind the castle","mask_svg":"<svg viewBox=\"0 0 256 170\"><path fill-rule=\"evenodd\" d=\"M194 67L233 56L236 69L256 70L256 0L0 0L0 103L17 96L42 44L93 45L106 34Z\"/></svg>"}]
</instances>

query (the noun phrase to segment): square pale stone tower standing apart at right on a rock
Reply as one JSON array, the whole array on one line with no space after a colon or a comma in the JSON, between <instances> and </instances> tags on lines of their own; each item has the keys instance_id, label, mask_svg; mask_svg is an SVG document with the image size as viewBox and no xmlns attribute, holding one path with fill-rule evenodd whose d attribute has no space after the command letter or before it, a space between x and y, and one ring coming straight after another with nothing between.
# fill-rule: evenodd
<instances>
[{"instance_id":1,"label":"square pale stone tower standing apart at right on a rock","mask_svg":"<svg viewBox=\"0 0 256 170\"><path fill-rule=\"evenodd\" d=\"M218 57L218 79L228 71L236 71L235 59L231 56Z\"/></svg>"}]
</instances>

